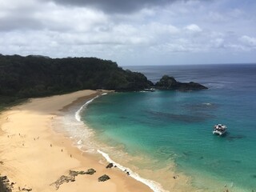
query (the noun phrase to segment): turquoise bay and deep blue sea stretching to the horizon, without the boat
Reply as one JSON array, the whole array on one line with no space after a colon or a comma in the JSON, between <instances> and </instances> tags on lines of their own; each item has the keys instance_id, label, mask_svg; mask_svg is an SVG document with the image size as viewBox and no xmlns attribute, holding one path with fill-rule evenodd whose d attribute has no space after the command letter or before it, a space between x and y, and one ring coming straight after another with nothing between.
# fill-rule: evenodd
<instances>
[{"instance_id":1,"label":"turquoise bay and deep blue sea stretching to the horizon, without the boat","mask_svg":"<svg viewBox=\"0 0 256 192\"><path fill-rule=\"evenodd\" d=\"M130 156L147 155L154 159L151 169L175 162L200 189L206 188L204 178L210 178L234 190L256 190L255 65L130 68L152 81L165 71L178 81L200 82L210 89L97 98L82 119L98 133L98 140L122 146ZM224 137L212 134L216 123L228 126Z\"/></svg>"}]
</instances>

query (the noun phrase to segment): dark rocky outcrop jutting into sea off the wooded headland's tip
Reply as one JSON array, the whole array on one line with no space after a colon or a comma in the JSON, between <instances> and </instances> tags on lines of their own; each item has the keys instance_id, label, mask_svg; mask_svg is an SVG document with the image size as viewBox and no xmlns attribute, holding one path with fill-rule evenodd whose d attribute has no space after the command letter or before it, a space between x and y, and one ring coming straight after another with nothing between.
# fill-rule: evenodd
<instances>
[{"instance_id":1,"label":"dark rocky outcrop jutting into sea off the wooded headland's tip","mask_svg":"<svg viewBox=\"0 0 256 192\"><path fill-rule=\"evenodd\" d=\"M168 75L162 76L159 82L155 84L155 88L158 90L206 90L206 86L202 86L197 82L177 82L174 77Z\"/></svg>"}]
</instances>

